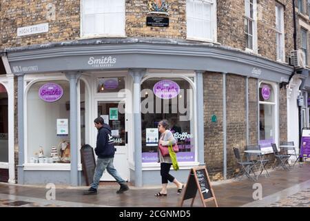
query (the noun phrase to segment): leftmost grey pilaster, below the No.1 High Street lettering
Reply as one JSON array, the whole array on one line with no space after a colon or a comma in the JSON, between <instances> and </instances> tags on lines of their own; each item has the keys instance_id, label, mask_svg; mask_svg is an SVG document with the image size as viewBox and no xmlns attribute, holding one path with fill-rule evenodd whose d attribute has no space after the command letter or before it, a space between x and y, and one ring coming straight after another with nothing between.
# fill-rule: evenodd
<instances>
[{"instance_id":1,"label":"leftmost grey pilaster, below the No.1 High Street lettering","mask_svg":"<svg viewBox=\"0 0 310 221\"><path fill-rule=\"evenodd\" d=\"M23 184L23 164L25 163L25 150L24 150L24 116L23 116L23 76L24 74L19 74L17 76L17 119L18 119L18 142L19 142L19 163L17 165L17 182L18 184Z\"/></svg>"}]
</instances>

